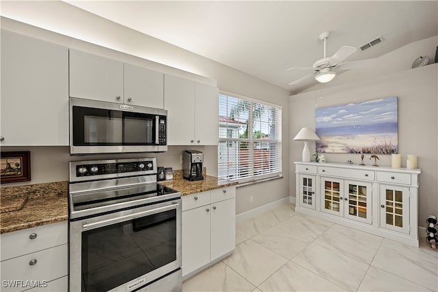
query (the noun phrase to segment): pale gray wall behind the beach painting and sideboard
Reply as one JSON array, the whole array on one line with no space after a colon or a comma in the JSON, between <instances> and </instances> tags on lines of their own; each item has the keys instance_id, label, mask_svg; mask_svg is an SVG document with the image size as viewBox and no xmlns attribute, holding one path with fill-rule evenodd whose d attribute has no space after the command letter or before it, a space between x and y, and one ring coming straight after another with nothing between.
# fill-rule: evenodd
<instances>
[{"instance_id":1,"label":"pale gray wall behind the beach painting and sideboard","mask_svg":"<svg viewBox=\"0 0 438 292\"><path fill-rule=\"evenodd\" d=\"M437 43L435 42L435 46ZM407 69L368 79L352 81L346 85L292 95L289 104L291 139L301 127L315 129L315 108L366 101L384 97L398 97L398 149L402 155L402 167L406 167L407 154L418 156L422 169L419 188L419 223L426 226L429 214L438 215L438 64ZM302 142L290 144L290 175L294 175L294 161L301 160ZM315 143L310 145L312 154ZM327 162L360 163L360 154L324 154ZM370 165L369 156L365 164ZM391 165L390 155L379 155L379 165ZM289 191L295 197L296 184L291 179Z\"/></svg>"}]
</instances>

